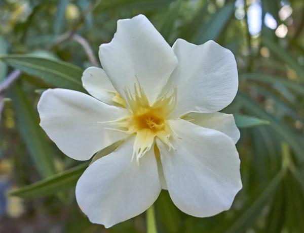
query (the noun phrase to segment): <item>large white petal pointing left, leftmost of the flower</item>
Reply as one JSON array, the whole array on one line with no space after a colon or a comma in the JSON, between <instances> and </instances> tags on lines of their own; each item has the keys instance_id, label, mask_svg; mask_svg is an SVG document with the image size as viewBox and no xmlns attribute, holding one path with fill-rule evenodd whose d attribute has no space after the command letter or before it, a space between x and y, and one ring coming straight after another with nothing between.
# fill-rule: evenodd
<instances>
[{"instance_id":1,"label":"large white petal pointing left, leftmost of the flower","mask_svg":"<svg viewBox=\"0 0 304 233\"><path fill-rule=\"evenodd\" d=\"M96 152L126 138L105 121L125 117L126 109L104 104L82 92L48 89L38 103L40 125L57 147L76 160L88 160Z\"/></svg>"}]
</instances>

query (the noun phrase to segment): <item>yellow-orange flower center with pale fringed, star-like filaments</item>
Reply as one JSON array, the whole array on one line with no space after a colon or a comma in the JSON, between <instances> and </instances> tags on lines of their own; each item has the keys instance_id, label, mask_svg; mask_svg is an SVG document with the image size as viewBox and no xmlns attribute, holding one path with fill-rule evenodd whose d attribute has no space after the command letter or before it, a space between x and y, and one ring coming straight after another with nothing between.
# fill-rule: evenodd
<instances>
[{"instance_id":1,"label":"yellow-orange flower center with pale fringed, star-like filaments","mask_svg":"<svg viewBox=\"0 0 304 233\"><path fill-rule=\"evenodd\" d=\"M127 88L125 94L130 115L113 122L113 124L121 128L119 131L127 134L136 133L132 158L135 157L138 162L154 145L155 137L167 144L169 150L173 148L169 141L172 130L167 123L167 117L176 105L176 88L171 95L166 92L153 105L149 105L139 83L138 85L134 84L134 94Z\"/></svg>"}]
</instances>

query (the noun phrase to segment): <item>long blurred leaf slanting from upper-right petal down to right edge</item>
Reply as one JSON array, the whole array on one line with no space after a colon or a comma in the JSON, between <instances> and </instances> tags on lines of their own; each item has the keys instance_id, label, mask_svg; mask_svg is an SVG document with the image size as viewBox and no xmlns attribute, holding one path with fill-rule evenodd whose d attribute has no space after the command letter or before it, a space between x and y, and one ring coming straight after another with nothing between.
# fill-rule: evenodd
<instances>
[{"instance_id":1,"label":"long blurred leaf slanting from upper-right petal down to right edge","mask_svg":"<svg viewBox=\"0 0 304 233\"><path fill-rule=\"evenodd\" d=\"M284 122L267 113L259 104L251 100L247 94L239 92L236 98L250 114L268 120L270 127L277 132L278 136L290 145L300 160L304 160L304 146L299 141L298 136L294 134Z\"/></svg>"}]
</instances>

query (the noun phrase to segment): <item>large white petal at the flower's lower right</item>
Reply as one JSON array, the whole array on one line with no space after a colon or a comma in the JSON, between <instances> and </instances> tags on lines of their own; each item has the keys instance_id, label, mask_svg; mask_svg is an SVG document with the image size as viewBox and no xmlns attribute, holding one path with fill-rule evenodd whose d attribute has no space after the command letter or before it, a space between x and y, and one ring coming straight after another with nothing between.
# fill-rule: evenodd
<instances>
[{"instance_id":1,"label":"large white petal at the flower's lower right","mask_svg":"<svg viewBox=\"0 0 304 233\"><path fill-rule=\"evenodd\" d=\"M242 188L240 160L232 139L188 121L170 121L176 150L160 140L161 161L173 203L183 212L208 217L228 210Z\"/></svg>"}]
</instances>

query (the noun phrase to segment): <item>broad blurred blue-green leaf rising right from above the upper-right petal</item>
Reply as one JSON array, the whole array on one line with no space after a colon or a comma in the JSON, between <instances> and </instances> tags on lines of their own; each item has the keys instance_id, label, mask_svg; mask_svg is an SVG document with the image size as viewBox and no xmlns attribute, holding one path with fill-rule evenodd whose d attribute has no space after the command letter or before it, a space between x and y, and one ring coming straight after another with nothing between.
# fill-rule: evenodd
<instances>
[{"instance_id":1,"label":"broad blurred blue-green leaf rising right from above the upper-right petal","mask_svg":"<svg viewBox=\"0 0 304 233\"><path fill-rule=\"evenodd\" d=\"M234 3L227 3L215 12L210 19L202 25L194 39L194 43L203 44L210 39L216 40L233 15L234 8Z\"/></svg>"}]
</instances>

